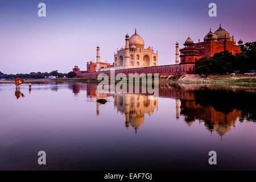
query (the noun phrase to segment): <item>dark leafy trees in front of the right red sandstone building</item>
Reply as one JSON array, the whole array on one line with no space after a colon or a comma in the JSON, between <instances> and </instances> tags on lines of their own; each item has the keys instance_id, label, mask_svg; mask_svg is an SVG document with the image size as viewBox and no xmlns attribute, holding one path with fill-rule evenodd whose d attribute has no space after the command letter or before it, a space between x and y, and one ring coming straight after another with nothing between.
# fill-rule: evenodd
<instances>
[{"instance_id":1,"label":"dark leafy trees in front of the right red sandstone building","mask_svg":"<svg viewBox=\"0 0 256 182\"><path fill-rule=\"evenodd\" d=\"M247 73L256 70L256 42L241 46L241 53L232 55L229 51L214 54L212 57L202 57L195 63L195 73L199 75Z\"/></svg>"}]
</instances>

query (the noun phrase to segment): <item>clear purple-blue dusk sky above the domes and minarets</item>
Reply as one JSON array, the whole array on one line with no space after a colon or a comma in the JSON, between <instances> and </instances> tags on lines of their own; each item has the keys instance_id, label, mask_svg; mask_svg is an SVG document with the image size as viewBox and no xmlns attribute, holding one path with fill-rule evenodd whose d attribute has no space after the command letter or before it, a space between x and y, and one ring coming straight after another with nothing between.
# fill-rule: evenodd
<instances>
[{"instance_id":1,"label":"clear purple-blue dusk sky above the domes and minarets","mask_svg":"<svg viewBox=\"0 0 256 182\"><path fill-rule=\"evenodd\" d=\"M38 3L46 3L47 16L38 16ZM210 2L217 17L208 16ZM75 64L85 70L96 60L100 46L103 60L125 46L125 35L135 27L145 48L158 50L158 64L175 64L175 43L183 47L222 28L241 38L256 41L256 1L68 1L23 0L0 2L0 71L3 73L69 72Z\"/></svg>"}]
</instances>

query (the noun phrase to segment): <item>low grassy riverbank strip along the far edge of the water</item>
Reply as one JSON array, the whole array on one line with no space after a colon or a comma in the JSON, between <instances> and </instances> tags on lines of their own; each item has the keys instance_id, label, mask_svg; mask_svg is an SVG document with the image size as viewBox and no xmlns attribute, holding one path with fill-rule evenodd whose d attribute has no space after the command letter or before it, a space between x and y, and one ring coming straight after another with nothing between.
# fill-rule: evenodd
<instances>
[{"instance_id":1,"label":"low grassy riverbank strip along the far edge of the water","mask_svg":"<svg viewBox=\"0 0 256 182\"><path fill-rule=\"evenodd\" d=\"M100 82L97 78L53 78L53 79L28 79L24 83L29 82ZM0 80L1 82L14 83L14 80ZM177 84L251 84L256 85L255 73L238 74L238 75L174 75L160 76L159 83L177 83Z\"/></svg>"}]
</instances>

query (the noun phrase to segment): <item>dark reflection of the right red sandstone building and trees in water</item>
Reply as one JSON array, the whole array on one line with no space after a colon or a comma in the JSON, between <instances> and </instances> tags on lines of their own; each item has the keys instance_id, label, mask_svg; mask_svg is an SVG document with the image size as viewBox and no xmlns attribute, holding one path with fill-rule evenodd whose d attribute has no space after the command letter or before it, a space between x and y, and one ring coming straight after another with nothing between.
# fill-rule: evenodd
<instances>
[{"instance_id":1,"label":"dark reflection of the right red sandstone building and trees in water","mask_svg":"<svg viewBox=\"0 0 256 182\"><path fill-rule=\"evenodd\" d=\"M245 116L250 115L255 122L253 106L245 102L246 98L255 99L254 90L225 89L166 84L160 85L159 97L176 98L177 119L180 99L180 115L184 116L188 126L195 121L204 122L210 133L216 131L222 137L232 127L236 127L238 119L243 120L246 119Z\"/></svg>"}]
</instances>

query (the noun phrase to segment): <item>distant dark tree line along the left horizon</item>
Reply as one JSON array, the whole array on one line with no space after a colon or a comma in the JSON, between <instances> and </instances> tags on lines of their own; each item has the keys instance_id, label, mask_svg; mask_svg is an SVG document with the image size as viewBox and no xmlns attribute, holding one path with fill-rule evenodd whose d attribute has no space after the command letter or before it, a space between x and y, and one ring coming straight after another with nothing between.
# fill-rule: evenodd
<instances>
[{"instance_id":1,"label":"distant dark tree line along the left horizon","mask_svg":"<svg viewBox=\"0 0 256 182\"><path fill-rule=\"evenodd\" d=\"M26 74L22 74L22 73L18 73L16 75L14 74L4 74L2 72L0 72L0 78L5 78L5 79L15 79L16 77L19 78L44 78L46 76L56 76L56 77L75 77L76 73L74 72L69 72L69 73L59 73L57 70L52 71L52 72L31 72L31 73L26 73Z\"/></svg>"}]
</instances>

